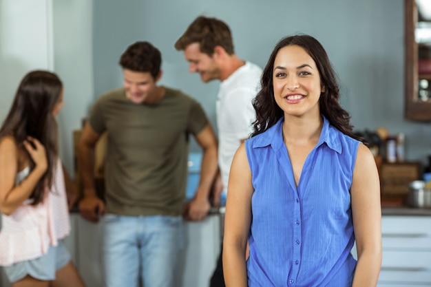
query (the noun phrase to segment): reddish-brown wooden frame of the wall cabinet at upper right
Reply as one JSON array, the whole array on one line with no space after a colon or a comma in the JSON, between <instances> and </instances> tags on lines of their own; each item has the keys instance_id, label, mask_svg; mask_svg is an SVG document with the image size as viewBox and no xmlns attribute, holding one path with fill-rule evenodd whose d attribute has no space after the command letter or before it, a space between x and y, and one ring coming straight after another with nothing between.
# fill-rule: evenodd
<instances>
[{"instance_id":1,"label":"reddish-brown wooden frame of the wall cabinet at upper right","mask_svg":"<svg viewBox=\"0 0 431 287\"><path fill-rule=\"evenodd\" d=\"M419 53L414 30L417 23L416 0L405 0L405 40L406 40L406 94L405 114L409 120L431 121L431 100L423 102L418 98Z\"/></svg>"}]
</instances>

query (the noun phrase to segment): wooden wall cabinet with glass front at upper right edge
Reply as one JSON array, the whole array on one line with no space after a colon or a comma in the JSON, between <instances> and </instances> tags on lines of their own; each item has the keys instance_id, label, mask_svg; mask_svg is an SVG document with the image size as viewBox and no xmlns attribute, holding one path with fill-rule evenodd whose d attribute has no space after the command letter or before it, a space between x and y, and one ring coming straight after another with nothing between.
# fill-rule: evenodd
<instances>
[{"instance_id":1,"label":"wooden wall cabinet with glass front at upper right edge","mask_svg":"<svg viewBox=\"0 0 431 287\"><path fill-rule=\"evenodd\" d=\"M405 116L431 120L431 2L405 1Z\"/></svg>"}]
</instances>

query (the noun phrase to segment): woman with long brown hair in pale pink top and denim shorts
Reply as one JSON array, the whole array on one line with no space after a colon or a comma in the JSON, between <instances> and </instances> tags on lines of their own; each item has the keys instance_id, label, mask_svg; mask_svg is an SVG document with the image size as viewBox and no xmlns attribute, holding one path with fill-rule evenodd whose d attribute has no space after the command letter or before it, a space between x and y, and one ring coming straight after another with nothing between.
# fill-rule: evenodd
<instances>
[{"instance_id":1,"label":"woman with long brown hair in pale pink top and denim shorts","mask_svg":"<svg viewBox=\"0 0 431 287\"><path fill-rule=\"evenodd\" d=\"M29 72L0 129L0 266L13 287L84 286L62 243L76 202L58 153L62 106L60 78Z\"/></svg>"}]
</instances>

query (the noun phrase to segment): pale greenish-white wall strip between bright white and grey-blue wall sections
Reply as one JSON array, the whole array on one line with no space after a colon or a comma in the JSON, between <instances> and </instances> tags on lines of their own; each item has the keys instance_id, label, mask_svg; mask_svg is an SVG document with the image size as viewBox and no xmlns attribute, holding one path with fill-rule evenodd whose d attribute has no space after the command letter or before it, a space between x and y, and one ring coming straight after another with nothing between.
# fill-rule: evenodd
<instances>
[{"instance_id":1,"label":"pale greenish-white wall strip between bright white and grey-blue wall sections","mask_svg":"<svg viewBox=\"0 0 431 287\"><path fill-rule=\"evenodd\" d=\"M1 0L0 0L1 1ZM64 84L59 114L60 156L74 177L74 129L93 101L93 1L53 1L54 70Z\"/></svg>"}]
</instances>

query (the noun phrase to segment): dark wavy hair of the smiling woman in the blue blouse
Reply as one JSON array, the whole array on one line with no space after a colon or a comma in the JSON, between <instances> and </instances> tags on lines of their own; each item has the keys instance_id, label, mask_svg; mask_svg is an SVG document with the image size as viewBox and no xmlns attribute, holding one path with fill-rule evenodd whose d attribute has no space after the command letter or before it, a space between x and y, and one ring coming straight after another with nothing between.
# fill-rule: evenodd
<instances>
[{"instance_id":1,"label":"dark wavy hair of the smiling woman in the blue blouse","mask_svg":"<svg viewBox=\"0 0 431 287\"><path fill-rule=\"evenodd\" d=\"M257 96L253 100L256 120L253 123L253 133L251 136L262 134L266 129L275 125L284 115L283 110L275 103L273 70L275 56L277 56L278 51L283 47L291 45L302 47L315 61L319 70L321 85L325 87L325 92L322 92L319 98L320 113L343 134L362 141L362 138L353 134L353 125L350 125L350 115L338 103L339 85L333 66L328 59L328 54L326 54L324 47L319 41L313 38L313 36L305 34L284 37L275 45L271 56L269 56L268 63L266 63L266 67L262 72L260 92L257 93Z\"/></svg>"}]
</instances>

